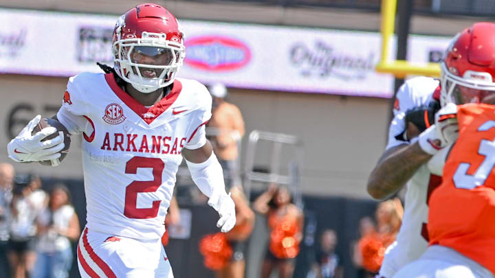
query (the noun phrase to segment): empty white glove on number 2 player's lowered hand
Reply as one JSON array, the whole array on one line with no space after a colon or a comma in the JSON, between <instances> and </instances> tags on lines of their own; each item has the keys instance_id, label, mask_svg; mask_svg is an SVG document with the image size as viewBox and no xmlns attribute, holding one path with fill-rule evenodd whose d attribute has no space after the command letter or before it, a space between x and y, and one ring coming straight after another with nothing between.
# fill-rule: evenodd
<instances>
[{"instance_id":1,"label":"empty white glove on number 2 player's lowered hand","mask_svg":"<svg viewBox=\"0 0 495 278\"><path fill-rule=\"evenodd\" d=\"M208 205L219 213L220 219L217 222L217 227L221 228L222 233L227 233L234 228L236 223L235 204L230 198L230 193L215 194L213 193L208 200Z\"/></svg>"}]
</instances>

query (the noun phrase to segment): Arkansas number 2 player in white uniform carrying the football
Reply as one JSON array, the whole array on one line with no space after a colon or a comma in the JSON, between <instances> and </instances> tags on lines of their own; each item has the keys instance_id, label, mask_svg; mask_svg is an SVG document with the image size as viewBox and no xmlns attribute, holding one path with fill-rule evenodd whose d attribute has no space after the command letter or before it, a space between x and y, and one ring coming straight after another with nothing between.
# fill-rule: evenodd
<instances>
[{"instance_id":1,"label":"Arkansas number 2 player in white uniform carrying the football","mask_svg":"<svg viewBox=\"0 0 495 278\"><path fill-rule=\"evenodd\" d=\"M205 137L212 100L195 80L175 78L185 55L175 16L157 4L123 14L113 32L113 69L69 79L56 119L83 136L87 225L77 255L82 277L173 277L160 238L184 157L217 227L236 222L221 166ZM32 130L40 116L8 144L9 157L56 159L63 135Z\"/></svg>"}]
</instances>

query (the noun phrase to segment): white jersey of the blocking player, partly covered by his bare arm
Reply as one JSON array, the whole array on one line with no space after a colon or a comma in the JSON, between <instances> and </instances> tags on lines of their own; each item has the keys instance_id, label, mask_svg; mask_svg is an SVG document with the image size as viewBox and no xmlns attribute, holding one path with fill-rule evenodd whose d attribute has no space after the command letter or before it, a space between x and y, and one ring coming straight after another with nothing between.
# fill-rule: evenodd
<instances>
[{"instance_id":1,"label":"white jersey of the blocking player, partly covered by his bare arm","mask_svg":"<svg viewBox=\"0 0 495 278\"><path fill-rule=\"evenodd\" d=\"M395 138L406 129L405 113L411 108L428 105L434 92L439 93L439 81L433 78L417 77L407 80L397 91L394 119L388 130L389 148L406 143ZM385 258L377 277L392 277L399 268L419 258L428 247L428 196L440 185L441 177L430 173L422 165L407 183L404 218L397 238L387 248Z\"/></svg>"}]
</instances>

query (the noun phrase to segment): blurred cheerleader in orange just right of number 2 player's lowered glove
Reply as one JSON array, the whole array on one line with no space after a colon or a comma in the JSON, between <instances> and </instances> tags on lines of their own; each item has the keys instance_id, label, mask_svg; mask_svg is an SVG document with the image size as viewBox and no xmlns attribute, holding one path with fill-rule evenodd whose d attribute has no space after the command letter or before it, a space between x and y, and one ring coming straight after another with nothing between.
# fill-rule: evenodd
<instances>
[{"instance_id":1,"label":"blurred cheerleader in orange just right of number 2 player's lowered glove","mask_svg":"<svg viewBox=\"0 0 495 278\"><path fill-rule=\"evenodd\" d=\"M227 233L227 240L232 247L232 257L225 268L217 270L217 278L243 278L245 270L245 251L247 240L254 228L254 212L248 199L239 186L230 190L235 203L236 225Z\"/></svg>"}]
</instances>

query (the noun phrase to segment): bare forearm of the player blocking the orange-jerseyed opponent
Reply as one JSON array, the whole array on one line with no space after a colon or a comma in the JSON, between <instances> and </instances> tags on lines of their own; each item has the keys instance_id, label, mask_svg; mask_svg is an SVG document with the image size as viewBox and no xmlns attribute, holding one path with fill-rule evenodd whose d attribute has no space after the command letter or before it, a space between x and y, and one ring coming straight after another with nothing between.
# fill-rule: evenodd
<instances>
[{"instance_id":1,"label":"bare forearm of the player blocking the orange-jerseyed opponent","mask_svg":"<svg viewBox=\"0 0 495 278\"><path fill-rule=\"evenodd\" d=\"M431 157L421 150L418 143L397 146L385 152L369 176L369 194L376 199L392 196Z\"/></svg>"}]
</instances>

